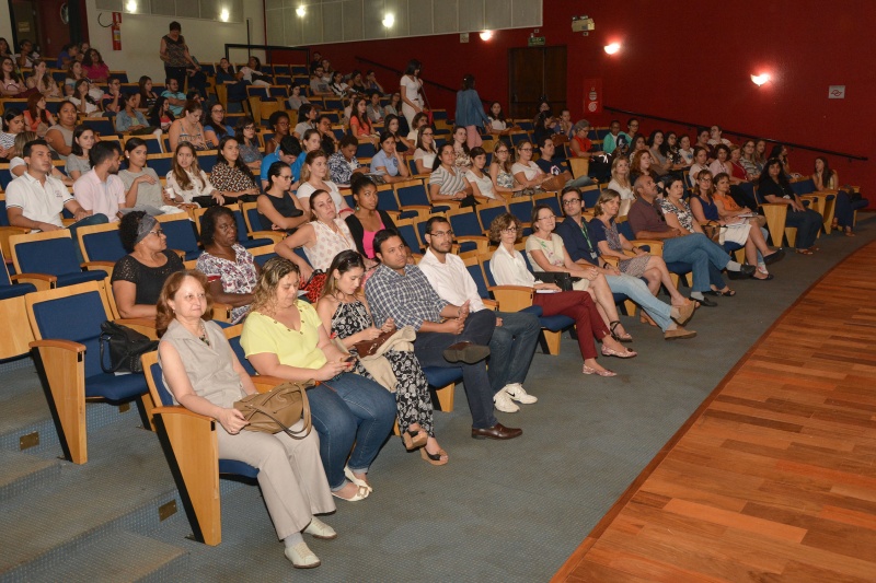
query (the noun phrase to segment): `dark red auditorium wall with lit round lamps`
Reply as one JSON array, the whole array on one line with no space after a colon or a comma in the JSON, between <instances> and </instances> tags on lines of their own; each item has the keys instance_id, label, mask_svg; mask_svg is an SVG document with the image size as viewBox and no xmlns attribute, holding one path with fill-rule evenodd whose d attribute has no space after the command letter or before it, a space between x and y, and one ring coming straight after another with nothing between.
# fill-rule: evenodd
<instances>
[{"instance_id":1,"label":"dark red auditorium wall with lit round lamps","mask_svg":"<svg viewBox=\"0 0 876 583\"><path fill-rule=\"evenodd\" d=\"M596 22L590 36L572 32L572 15L584 13ZM600 78L609 106L873 159L873 22L876 2L871 0L735 0L696 8L642 0L586 5L544 0L539 35L549 45L568 48L567 98L575 118L583 116L581 79ZM369 68L356 57L396 69L417 58L424 78L451 88L472 72L481 97L507 107L507 49L526 46L530 32L499 31L489 42L472 34L468 44L459 35L441 35L314 48L343 71ZM623 48L610 57L602 47L614 40ZM396 84L389 72L376 70L384 88ZM758 88L750 75L762 71L773 79ZM832 84L846 85L845 100L828 100ZM435 88L427 92L434 107L446 107L452 116L452 93ZM613 116L587 117L607 125ZM645 132L657 127L687 131L643 120ZM792 150L792 170L808 174L816 155ZM828 158L842 184L861 185L876 201L873 160Z\"/></svg>"}]
</instances>

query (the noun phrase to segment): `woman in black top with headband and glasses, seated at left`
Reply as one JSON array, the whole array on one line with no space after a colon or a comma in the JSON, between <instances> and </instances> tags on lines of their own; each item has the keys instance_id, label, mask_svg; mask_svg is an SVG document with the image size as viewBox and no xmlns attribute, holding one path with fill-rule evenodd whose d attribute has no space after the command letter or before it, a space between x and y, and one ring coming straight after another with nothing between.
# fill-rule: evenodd
<instances>
[{"instance_id":1,"label":"woman in black top with headband and glasses, seated at left","mask_svg":"<svg viewBox=\"0 0 876 583\"><path fill-rule=\"evenodd\" d=\"M146 212L123 217L118 236L128 252L116 261L111 280L118 313L123 318L154 318L164 281L185 266L178 255L168 249L161 223Z\"/></svg>"}]
</instances>

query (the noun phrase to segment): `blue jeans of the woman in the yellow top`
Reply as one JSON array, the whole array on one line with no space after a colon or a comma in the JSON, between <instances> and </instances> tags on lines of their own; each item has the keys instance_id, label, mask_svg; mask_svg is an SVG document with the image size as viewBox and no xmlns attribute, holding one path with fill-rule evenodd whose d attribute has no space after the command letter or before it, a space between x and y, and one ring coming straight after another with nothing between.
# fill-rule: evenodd
<instances>
[{"instance_id":1,"label":"blue jeans of the woman in the yellow top","mask_svg":"<svg viewBox=\"0 0 876 583\"><path fill-rule=\"evenodd\" d=\"M368 471L395 422L395 397L373 381L343 373L309 388L308 399L328 487L336 491L346 483L347 456L353 471Z\"/></svg>"}]
</instances>

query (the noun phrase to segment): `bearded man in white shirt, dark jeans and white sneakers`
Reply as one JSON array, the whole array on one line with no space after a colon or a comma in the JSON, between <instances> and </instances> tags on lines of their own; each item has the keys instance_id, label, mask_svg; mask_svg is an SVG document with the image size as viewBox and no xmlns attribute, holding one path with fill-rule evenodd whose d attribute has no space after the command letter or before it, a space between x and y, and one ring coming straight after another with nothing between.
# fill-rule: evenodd
<instances>
[{"instance_id":1,"label":"bearded man in white shirt, dark jeans and white sneakers","mask_svg":"<svg viewBox=\"0 0 876 583\"><path fill-rule=\"evenodd\" d=\"M426 224L426 243L429 248L418 267L442 300L453 305L470 302L471 312L486 310L477 294L477 285L459 256L450 253L453 233L443 217L433 217ZM493 403L503 412L520 408L512 403L532 404L537 397L523 388L523 381L535 352L541 324L534 314L526 312L496 313L496 328L489 340L487 373L493 387Z\"/></svg>"}]
</instances>

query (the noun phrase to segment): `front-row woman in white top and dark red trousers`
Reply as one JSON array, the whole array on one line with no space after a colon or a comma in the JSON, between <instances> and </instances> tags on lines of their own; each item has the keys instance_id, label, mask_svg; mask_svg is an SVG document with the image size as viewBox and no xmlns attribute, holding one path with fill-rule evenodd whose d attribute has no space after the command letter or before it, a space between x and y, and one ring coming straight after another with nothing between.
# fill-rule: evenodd
<instances>
[{"instance_id":1,"label":"front-row woman in white top and dark red trousers","mask_svg":"<svg viewBox=\"0 0 876 583\"><path fill-rule=\"evenodd\" d=\"M553 213L548 207L542 211ZM561 291L555 283L543 283L535 279L527 269L526 259L514 246L519 240L522 229L517 219L505 213L496 217L489 225L489 238L499 242L499 247L489 261L489 270L499 285L523 285L533 288L535 293L532 303L541 306L544 316L564 315L575 319L578 330L578 348L584 359L584 374L598 374L599 376L615 376L616 373L603 368L597 362L597 352L593 339L601 339L602 353L614 354L622 358L635 357L636 353L627 351L620 342L614 340L608 326L597 312L596 304L587 292ZM587 334L590 330L590 335Z\"/></svg>"}]
</instances>

